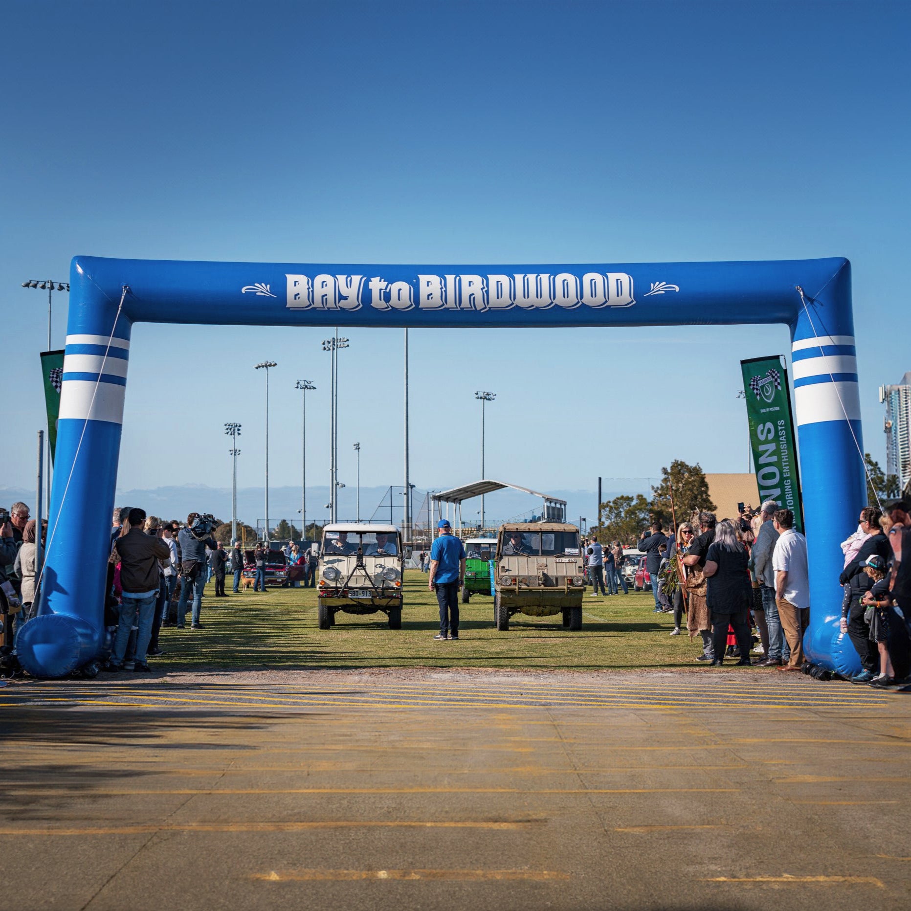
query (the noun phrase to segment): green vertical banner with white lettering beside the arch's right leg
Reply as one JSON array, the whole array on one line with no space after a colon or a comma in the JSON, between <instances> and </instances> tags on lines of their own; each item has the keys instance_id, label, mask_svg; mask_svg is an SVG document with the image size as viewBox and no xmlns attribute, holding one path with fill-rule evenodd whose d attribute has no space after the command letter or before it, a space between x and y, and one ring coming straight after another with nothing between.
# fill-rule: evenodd
<instances>
[{"instance_id":1,"label":"green vertical banner with white lettering beside the arch's right leg","mask_svg":"<svg viewBox=\"0 0 911 911\"><path fill-rule=\"evenodd\" d=\"M776 500L804 530L788 372L781 354L741 361L750 445L760 502Z\"/></svg>"}]
</instances>

